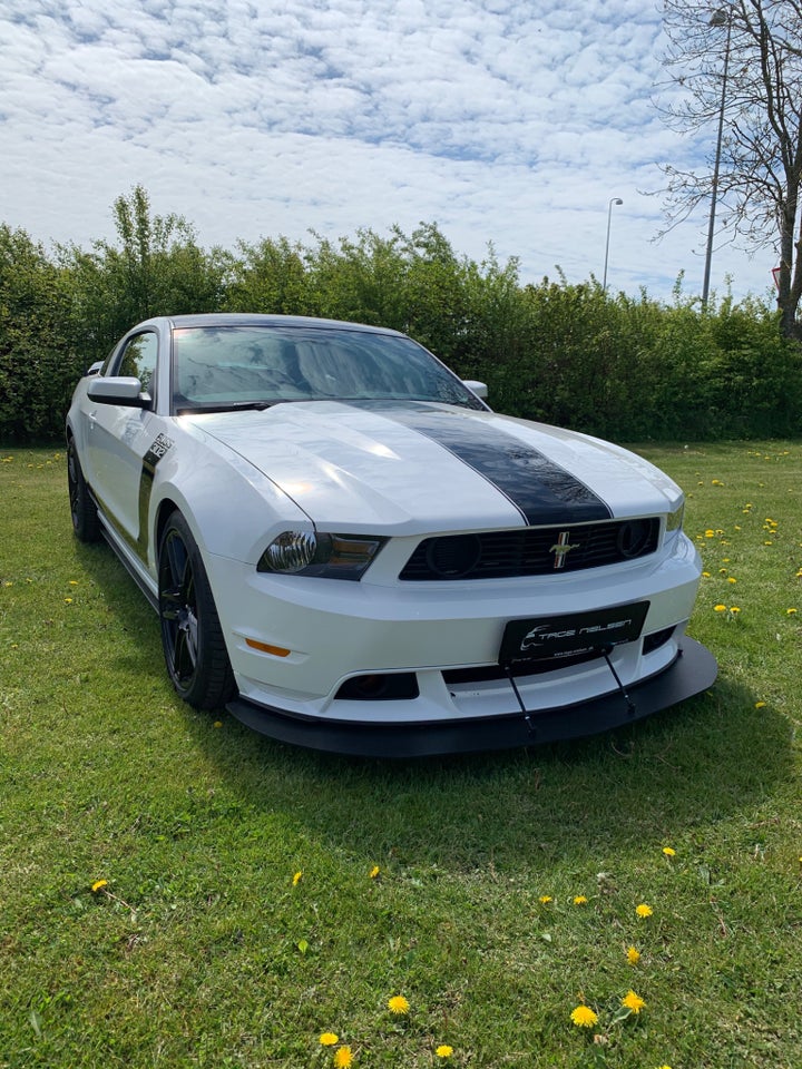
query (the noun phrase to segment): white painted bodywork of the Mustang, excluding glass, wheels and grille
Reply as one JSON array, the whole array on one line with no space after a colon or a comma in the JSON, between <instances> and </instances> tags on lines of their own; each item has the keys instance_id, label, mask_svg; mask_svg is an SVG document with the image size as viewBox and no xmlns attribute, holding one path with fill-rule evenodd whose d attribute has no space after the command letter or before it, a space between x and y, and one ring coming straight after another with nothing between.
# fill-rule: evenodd
<instances>
[{"instance_id":1,"label":"white painted bodywork of the Mustang, excluding glass, wheels and grille","mask_svg":"<svg viewBox=\"0 0 802 1069\"><path fill-rule=\"evenodd\" d=\"M252 316L248 322L262 321ZM304 328L310 324L286 322ZM265 717L280 714L299 724L330 725L336 735L343 725L418 726L426 733L428 726L461 729L471 722L522 718L531 732L540 712L545 723L547 715L602 702L604 727L613 723L610 695L629 702L628 688L643 687L651 706L661 707L649 680L663 673L677 676L674 666L683 646L700 666L693 684L677 685L672 694L687 696L714 678L712 659L684 638L701 561L682 530L666 529L667 518L682 506L682 491L654 465L586 435L498 415L479 402L475 409L414 402L411 423L403 403L338 400L174 414L166 355L174 325L157 320L136 328L155 333L165 354L154 372L153 402L144 408L100 403L89 395L92 380L85 379L68 415L68 437L109 541L155 605L165 517L177 509L187 521L239 693L232 708L248 723L260 727L261 710ZM115 367L114 360L109 366ZM422 421L423 432L415 421ZM470 448L489 435L508 442L516 458L547 458L549 472L565 473L577 492L587 489L612 521L658 517L654 550L604 567L563 571L555 545L548 573L400 578L428 537L532 528L532 507L517 500L516 480L502 486L492 468L468 462L459 449L438 440L440 425ZM570 533L578 543L589 523L571 520L566 507L565 521L544 526L565 528L564 541ZM387 541L359 581L257 570L265 549L288 530ZM626 616L627 607L639 602L648 602L648 609L643 631L633 640L613 643L609 649L599 645L598 655L584 663L564 666L557 659L535 674L527 668L515 685L505 676L507 669L496 670L509 621L555 618L570 629L584 614L620 607ZM656 635L661 638L652 648L648 637ZM488 678L495 670L497 678ZM392 676L413 680L417 693L376 700L339 695L349 680ZM284 737L270 725L260 729ZM590 722L587 730L594 729ZM550 733L558 736L559 727ZM448 737L434 752L438 746L470 748L459 741L454 745L454 735ZM487 732L482 738L493 745ZM349 747L332 743L325 748ZM372 752L360 743L352 748ZM378 752L387 749L382 744Z\"/></svg>"}]
</instances>

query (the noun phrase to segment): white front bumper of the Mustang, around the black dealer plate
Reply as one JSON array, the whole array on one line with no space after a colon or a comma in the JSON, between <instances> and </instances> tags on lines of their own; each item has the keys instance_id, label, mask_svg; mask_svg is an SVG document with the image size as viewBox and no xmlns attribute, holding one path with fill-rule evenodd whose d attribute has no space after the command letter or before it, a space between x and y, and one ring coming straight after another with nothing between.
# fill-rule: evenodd
<instances>
[{"instance_id":1,"label":"white front bumper of the Mustang, around the black dealer plate","mask_svg":"<svg viewBox=\"0 0 802 1069\"><path fill-rule=\"evenodd\" d=\"M448 724L518 712L506 685L443 680L447 673L498 665L510 620L648 602L644 639L671 628L675 637L648 654L640 641L616 646L616 670L625 686L635 686L666 669L694 607L701 561L683 537L672 552L648 560L526 580L383 585L365 577L351 583L272 577L216 557L207 571L244 699L300 718ZM364 702L340 695L351 679L404 673L414 674L420 687L420 697L404 707L385 702L368 710ZM590 664L548 671L526 689L527 708L540 710L591 702L612 687L605 666Z\"/></svg>"}]
</instances>

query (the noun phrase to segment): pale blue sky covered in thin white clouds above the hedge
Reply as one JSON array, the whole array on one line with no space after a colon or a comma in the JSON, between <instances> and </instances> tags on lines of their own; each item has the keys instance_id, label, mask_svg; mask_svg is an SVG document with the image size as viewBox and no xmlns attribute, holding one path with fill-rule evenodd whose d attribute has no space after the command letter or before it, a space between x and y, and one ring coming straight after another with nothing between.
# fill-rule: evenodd
<instances>
[{"instance_id":1,"label":"pale blue sky covered in thin white clouds above the hedge","mask_svg":"<svg viewBox=\"0 0 802 1069\"><path fill-rule=\"evenodd\" d=\"M714 4L712 4L714 6ZM113 238L141 184L199 243L434 222L521 279L698 294L706 217L654 242L658 164L708 138L657 115L658 0L2 0L0 222ZM764 294L770 249L712 286Z\"/></svg>"}]
</instances>

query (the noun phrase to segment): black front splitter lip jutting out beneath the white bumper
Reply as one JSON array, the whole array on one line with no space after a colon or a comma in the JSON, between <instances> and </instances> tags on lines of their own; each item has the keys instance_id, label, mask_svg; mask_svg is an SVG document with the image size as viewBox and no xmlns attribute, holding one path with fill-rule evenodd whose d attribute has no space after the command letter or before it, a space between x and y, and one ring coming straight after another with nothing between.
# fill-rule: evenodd
<instances>
[{"instance_id":1,"label":"black front splitter lip jutting out beneath the white bumper","mask_svg":"<svg viewBox=\"0 0 802 1069\"><path fill-rule=\"evenodd\" d=\"M299 717L235 698L228 712L262 735L294 746L361 757L431 757L438 754L509 749L596 735L706 690L717 675L713 655L683 638L679 656L659 675L580 705L443 723L354 724L326 717ZM628 702L627 702L628 697Z\"/></svg>"}]
</instances>

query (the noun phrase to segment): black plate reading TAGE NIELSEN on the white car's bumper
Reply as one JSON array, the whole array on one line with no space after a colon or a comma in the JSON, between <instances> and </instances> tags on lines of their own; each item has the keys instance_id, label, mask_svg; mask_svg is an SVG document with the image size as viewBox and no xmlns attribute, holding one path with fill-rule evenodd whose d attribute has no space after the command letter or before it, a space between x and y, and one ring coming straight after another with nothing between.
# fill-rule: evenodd
<instances>
[{"instance_id":1,"label":"black plate reading TAGE NIELSEN on the white car's bumper","mask_svg":"<svg viewBox=\"0 0 802 1069\"><path fill-rule=\"evenodd\" d=\"M501 639L499 664L581 657L605 646L632 643L640 637L648 607L648 601L636 601L594 612L510 620Z\"/></svg>"}]
</instances>

